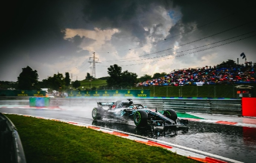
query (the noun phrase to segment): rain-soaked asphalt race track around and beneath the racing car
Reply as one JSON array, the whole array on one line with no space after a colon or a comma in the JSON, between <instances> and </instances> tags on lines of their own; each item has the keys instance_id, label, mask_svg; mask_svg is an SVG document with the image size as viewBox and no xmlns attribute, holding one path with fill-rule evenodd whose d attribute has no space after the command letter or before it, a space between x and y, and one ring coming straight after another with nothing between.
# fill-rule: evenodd
<instances>
[{"instance_id":1,"label":"rain-soaked asphalt race track around and beneath the racing car","mask_svg":"<svg viewBox=\"0 0 256 163\"><path fill-rule=\"evenodd\" d=\"M17 101L0 101L0 112L101 126L174 143L244 163L255 163L256 160L256 128L189 121L187 128L142 129L137 128L133 122L117 122L108 119L94 121L91 111L96 106L96 102L86 107L60 106L46 109L29 108L26 104L26 101L18 103Z\"/></svg>"}]
</instances>

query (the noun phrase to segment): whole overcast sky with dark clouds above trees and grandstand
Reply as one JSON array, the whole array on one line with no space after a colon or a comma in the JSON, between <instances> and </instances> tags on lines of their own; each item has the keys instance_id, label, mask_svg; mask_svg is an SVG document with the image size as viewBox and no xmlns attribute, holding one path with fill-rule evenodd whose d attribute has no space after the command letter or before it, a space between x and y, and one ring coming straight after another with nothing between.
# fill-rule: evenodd
<instances>
[{"instance_id":1,"label":"whole overcast sky with dark clouds above trees and grandstand","mask_svg":"<svg viewBox=\"0 0 256 163\"><path fill-rule=\"evenodd\" d=\"M242 64L242 52L256 62L254 0L15 1L1 11L0 81L17 81L27 66L39 81L58 72L83 80L93 52L96 78L114 64L142 77Z\"/></svg>"}]
</instances>

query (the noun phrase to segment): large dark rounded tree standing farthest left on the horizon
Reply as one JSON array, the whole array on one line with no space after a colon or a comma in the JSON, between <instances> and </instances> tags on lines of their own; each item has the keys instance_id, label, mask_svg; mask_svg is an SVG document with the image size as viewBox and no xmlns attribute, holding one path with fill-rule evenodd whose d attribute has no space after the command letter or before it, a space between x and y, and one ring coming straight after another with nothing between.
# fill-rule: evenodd
<instances>
[{"instance_id":1,"label":"large dark rounded tree standing farthest left on the horizon","mask_svg":"<svg viewBox=\"0 0 256 163\"><path fill-rule=\"evenodd\" d=\"M38 79L36 70L33 71L29 66L22 68L22 72L18 77L18 89L40 90Z\"/></svg>"}]
</instances>

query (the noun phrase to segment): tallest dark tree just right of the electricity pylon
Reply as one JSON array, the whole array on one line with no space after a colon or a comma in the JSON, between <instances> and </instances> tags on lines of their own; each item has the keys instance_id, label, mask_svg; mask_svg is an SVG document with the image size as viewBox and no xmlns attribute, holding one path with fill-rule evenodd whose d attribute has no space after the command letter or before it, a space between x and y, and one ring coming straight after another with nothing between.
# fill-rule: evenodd
<instances>
[{"instance_id":1,"label":"tallest dark tree just right of the electricity pylon","mask_svg":"<svg viewBox=\"0 0 256 163\"><path fill-rule=\"evenodd\" d=\"M117 64L111 65L108 68L108 74L110 78L106 81L108 83L108 86L120 86L122 82L121 73L121 67L119 67Z\"/></svg>"}]
</instances>

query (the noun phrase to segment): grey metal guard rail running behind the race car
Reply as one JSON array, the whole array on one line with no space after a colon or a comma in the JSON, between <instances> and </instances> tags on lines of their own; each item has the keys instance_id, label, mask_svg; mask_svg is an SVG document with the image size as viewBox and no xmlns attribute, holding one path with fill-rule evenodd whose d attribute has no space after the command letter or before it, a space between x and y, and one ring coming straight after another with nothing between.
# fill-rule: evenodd
<instances>
[{"instance_id":1,"label":"grey metal guard rail running behind the race car","mask_svg":"<svg viewBox=\"0 0 256 163\"><path fill-rule=\"evenodd\" d=\"M50 106L86 106L89 102L115 102L127 98L50 98ZM142 103L152 109L174 109L180 112L197 112L242 116L241 99L172 99L133 98L134 103ZM96 107L95 102L95 107Z\"/></svg>"}]
</instances>

